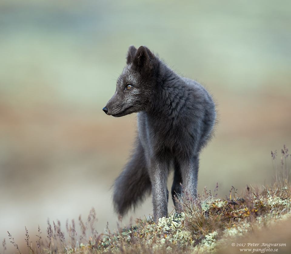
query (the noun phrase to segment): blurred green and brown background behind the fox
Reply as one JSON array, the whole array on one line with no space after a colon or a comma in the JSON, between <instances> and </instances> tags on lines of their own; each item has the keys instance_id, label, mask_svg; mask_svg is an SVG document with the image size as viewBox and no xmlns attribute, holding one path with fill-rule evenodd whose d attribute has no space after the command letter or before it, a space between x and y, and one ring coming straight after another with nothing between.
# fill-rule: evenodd
<instances>
[{"instance_id":1,"label":"blurred green and brown background behind the fox","mask_svg":"<svg viewBox=\"0 0 291 254\"><path fill-rule=\"evenodd\" d=\"M39 225L45 239L48 218L67 237L66 219L78 225L92 207L99 233L107 221L116 229L111 186L131 153L136 115L102 108L130 45L159 53L216 100L199 193L217 182L221 198L231 186L240 194L272 184L271 150L281 168L281 148L291 146L290 24L290 1L1 0L1 242L16 252L9 231L25 252L25 226L32 237ZM150 213L148 198L123 222Z\"/></svg>"}]
</instances>

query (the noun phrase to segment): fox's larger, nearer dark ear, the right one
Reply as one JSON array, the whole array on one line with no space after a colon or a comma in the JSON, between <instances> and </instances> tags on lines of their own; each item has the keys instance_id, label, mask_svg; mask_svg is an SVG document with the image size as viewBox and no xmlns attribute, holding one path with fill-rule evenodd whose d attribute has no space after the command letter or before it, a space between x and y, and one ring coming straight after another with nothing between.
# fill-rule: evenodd
<instances>
[{"instance_id":1,"label":"fox's larger, nearer dark ear, the right one","mask_svg":"<svg viewBox=\"0 0 291 254\"><path fill-rule=\"evenodd\" d=\"M139 47L132 61L132 63L142 72L152 71L156 69L157 62L158 62L158 59L145 46Z\"/></svg>"}]
</instances>

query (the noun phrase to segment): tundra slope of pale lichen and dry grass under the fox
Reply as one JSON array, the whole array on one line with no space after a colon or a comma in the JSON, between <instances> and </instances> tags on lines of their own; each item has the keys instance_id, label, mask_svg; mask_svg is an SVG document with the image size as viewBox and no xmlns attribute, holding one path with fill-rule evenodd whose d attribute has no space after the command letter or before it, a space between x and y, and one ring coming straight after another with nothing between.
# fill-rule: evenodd
<instances>
[{"instance_id":1,"label":"tundra slope of pale lichen and dry grass under the fox","mask_svg":"<svg viewBox=\"0 0 291 254\"><path fill-rule=\"evenodd\" d=\"M160 218L155 223L149 216L136 219L135 224L120 227L111 232L107 225L106 232L99 234L94 224L97 221L95 209L84 222L79 217L80 231L76 222L67 220L65 231L59 221L50 222L46 233L38 228L36 242L30 241L25 228L26 250L20 250L12 234L9 241L18 253L236 253L242 248L251 252L262 252L262 244L278 249L277 253L290 253L288 246L291 237L291 184L288 162L290 155L284 145L281 150L280 166L277 166L277 152L271 152L274 182L271 186L253 188L246 185L240 195L233 186L229 196L217 198L216 188L207 191L206 187L196 199L184 195L180 202L181 212L172 212L167 218ZM281 169L280 169L281 168ZM179 201L178 201L179 202ZM122 222L120 222L122 223ZM6 251L7 242L2 242ZM248 246L248 243L259 246ZM241 246L239 244L245 244ZM231 244L235 244L232 247ZM278 244L286 244L280 246ZM238 246L238 247L237 247ZM255 249L254 248L259 248Z\"/></svg>"}]
</instances>

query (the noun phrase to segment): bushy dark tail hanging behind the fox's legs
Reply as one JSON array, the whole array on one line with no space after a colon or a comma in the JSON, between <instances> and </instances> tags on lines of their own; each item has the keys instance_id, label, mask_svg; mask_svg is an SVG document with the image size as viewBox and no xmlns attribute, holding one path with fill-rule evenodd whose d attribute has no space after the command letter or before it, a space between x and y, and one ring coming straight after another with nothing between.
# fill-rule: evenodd
<instances>
[{"instance_id":1,"label":"bushy dark tail hanging behind the fox's legs","mask_svg":"<svg viewBox=\"0 0 291 254\"><path fill-rule=\"evenodd\" d=\"M115 211L125 215L131 207L135 208L142 202L150 192L151 181L146 168L146 158L138 138L132 160L115 180L113 195Z\"/></svg>"}]
</instances>

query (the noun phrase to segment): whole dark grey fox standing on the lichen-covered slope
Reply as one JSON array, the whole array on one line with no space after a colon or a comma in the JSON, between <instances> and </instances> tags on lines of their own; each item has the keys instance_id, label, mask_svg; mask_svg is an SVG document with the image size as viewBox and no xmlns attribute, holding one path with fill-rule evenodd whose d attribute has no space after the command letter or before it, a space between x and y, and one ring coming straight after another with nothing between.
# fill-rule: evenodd
<instances>
[{"instance_id":1,"label":"whole dark grey fox standing on the lichen-covered slope","mask_svg":"<svg viewBox=\"0 0 291 254\"><path fill-rule=\"evenodd\" d=\"M152 191L153 216L167 216L167 178L174 165L172 198L196 197L199 153L212 137L215 104L206 89L176 74L147 47L130 46L116 91L103 111L122 117L138 112L136 148L115 180L115 211L125 215Z\"/></svg>"}]
</instances>

